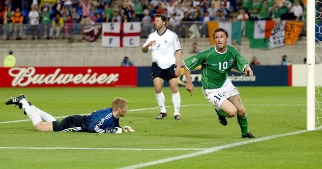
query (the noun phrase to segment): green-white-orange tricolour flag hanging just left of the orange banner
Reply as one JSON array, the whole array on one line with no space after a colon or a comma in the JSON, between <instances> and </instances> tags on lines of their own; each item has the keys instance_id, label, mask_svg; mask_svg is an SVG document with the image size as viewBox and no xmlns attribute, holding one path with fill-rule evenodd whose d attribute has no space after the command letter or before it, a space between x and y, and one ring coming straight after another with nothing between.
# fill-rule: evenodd
<instances>
[{"instance_id":1,"label":"green-white-orange tricolour flag hanging just left of the orange banner","mask_svg":"<svg viewBox=\"0 0 322 169\"><path fill-rule=\"evenodd\" d=\"M245 37L249 39L268 39L274 28L273 20L258 20L246 22Z\"/></svg>"}]
</instances>

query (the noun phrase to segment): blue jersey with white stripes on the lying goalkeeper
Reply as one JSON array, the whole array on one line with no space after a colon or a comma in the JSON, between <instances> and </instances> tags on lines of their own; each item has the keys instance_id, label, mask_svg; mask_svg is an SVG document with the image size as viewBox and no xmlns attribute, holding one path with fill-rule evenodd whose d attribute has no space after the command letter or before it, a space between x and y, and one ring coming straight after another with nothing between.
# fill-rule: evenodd
<instances>
[{"instance_id":1,"label":"blue jersey with white stripes on the lying goalkeeper","mask_svg":"<svg viewBox=\"0 0 322 169\"><path fill-rule=\"evenodd\" d=\"M88 122L88 132L104 133L114 127L120 127L119 119L113 117L111 107L94 111L89 116L86 116L86 120Z\"/></svg>"}]
</instances>

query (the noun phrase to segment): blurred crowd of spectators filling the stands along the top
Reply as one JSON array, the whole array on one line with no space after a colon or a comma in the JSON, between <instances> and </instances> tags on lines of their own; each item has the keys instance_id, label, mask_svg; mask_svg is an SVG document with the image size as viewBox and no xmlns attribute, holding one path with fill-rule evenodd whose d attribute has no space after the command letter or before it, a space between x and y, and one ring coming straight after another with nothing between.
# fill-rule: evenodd
<instances>
[{"instance_id":1,"label":"blurred crowd of spectators filling the stands along the top","mask_svg":"<svg viewBox=\"0 0 322 169\"><path fill-rule=\"evenodd\" d=\"M303 1L303 2L302 2ZM111 7L112 4L117 7ZM208 36L206 22L295 19L304 16L306 0L5 0L0 4L3 39L67 37L80 27L101 22L142 22L142 36L153 31L156 14L168 17L169 29L181 37ZM320 6L316 9L320 11ZM78 23L78 24L75 24ZM80 26L77 26L80 25ZM55 32L55 34L54 34Z\"/></svg>"}]
</instances>

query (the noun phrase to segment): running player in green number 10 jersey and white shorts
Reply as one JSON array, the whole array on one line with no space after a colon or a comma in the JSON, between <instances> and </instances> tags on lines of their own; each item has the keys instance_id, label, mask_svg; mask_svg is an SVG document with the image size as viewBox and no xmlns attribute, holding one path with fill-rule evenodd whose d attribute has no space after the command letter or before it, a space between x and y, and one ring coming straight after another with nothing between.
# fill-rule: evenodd
<instances>
[{"instance_id":1,"label":"running player in green number 10 jersey and white shorts","mask_svg":"<svg viewBox=\"0 0 322 169\"><path fill-rule=\"evenodd\" d=\"M192 95L195 90L190 71L201 65L202 91L208 101L215 106L219 122L227 125L227 118L237 115L243 138L255 138L248 132L247 114L239 97L239 92L232 81L227 78L228 72L237 67L246 75L253 76L248 62L238 50L227 45L229 40L225 29L214 31L215 46L210 47L185 60L186 89Z\"/></svg>"}]
</instances>

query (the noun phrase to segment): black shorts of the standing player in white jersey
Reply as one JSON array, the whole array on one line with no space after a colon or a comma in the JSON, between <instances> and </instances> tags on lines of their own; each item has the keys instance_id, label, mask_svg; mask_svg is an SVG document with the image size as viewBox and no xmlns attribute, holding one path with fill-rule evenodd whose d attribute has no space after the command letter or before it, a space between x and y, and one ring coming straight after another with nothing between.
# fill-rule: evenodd
<instances>
[{"instance_id":1,"label":"black shorts of the standing player in white jersey","mask_svg":"<svg viewBox=\"0 0 322 169\"><path fill-rule=\"evenodd\" d=\"M157 63L153 62L151 67L152 79L154 79L155 77L160 77L164 80L166 79L167 81L169 81L172 78L176 78L175 67L176 65L171 65L167 69L161 69L159 66L157 66Z\"/></svg>"}]
</instances>

